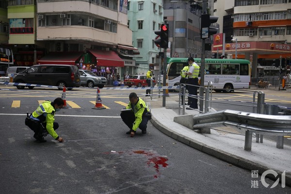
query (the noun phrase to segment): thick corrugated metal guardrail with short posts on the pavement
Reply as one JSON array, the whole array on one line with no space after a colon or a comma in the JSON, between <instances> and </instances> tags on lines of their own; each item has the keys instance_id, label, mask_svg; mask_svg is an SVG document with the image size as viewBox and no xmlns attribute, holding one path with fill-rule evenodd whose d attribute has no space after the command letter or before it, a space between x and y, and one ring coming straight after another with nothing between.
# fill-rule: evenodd
<instances>
[{"instance_id":1,"label":"thick corrugated metal guardrail with short posts on the pavement","mask_svg":"<svg viewBox=\"0 0 291 194\"><path fill-rule=\"evenodd\" d=\"M252 147L253 132L278 136L277 148L283 148L284 135L291 135L291 116L224 110L196 115L193 121L194 129L223 125L245 130L244 150L247 151Z\"/></svg>"}]
</instances>

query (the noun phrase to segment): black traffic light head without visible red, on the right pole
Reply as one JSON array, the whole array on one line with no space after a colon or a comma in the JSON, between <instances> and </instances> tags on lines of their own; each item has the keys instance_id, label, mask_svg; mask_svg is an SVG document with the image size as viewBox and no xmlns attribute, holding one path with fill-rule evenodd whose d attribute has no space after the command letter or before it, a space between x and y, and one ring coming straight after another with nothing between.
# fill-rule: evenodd
<instances>
[{"instance_id":1,"label":"black traffic light head without visible red, on the right pole","mask_svg":"<svg viewBox=\"0 0 291 194\"><path fill-rule=\"evenodd\" d=\"M201 15L200 36L202 39L209 38L210 35L217 33L218 28L210 27L210 25L216 23L217 20L218 16L210 16L209 14Z\"/></svg>"}]
</instances>

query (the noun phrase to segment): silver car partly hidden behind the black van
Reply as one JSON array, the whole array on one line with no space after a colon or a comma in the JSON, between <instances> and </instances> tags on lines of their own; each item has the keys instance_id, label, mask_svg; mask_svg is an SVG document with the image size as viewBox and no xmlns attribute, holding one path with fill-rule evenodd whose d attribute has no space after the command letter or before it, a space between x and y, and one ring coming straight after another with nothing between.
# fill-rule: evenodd
<instances>
[{"instance_id":1,"label":"silver car partly hidden behind the black van","mask_svg":"<svg viewBox=\"0 0 291 194\"><path fill-rule=\"evenodd\" d=\"M89 70L79 70L81 85L88 86L89 88L103 88L107 84L107 79L101 76L95 75Z\"/></svg>"}]
</instances>

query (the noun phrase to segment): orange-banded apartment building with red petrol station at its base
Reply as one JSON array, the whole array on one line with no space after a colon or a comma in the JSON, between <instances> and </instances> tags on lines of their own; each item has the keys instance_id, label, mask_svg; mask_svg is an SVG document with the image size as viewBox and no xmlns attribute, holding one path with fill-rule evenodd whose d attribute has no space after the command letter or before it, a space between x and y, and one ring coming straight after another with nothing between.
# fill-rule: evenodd
<instances>
[{"instance_id":1,"label":"orange-banded apartment building with red petrol station at its base","mask_svg":"<svg viewBox=\"0 0 291 194\"><path fill-rule=\"evenodd\" d=\"M214 15L225 33L225 53L250 60L252 77L259 77L259 68L278 75L273 64L280 57L290 68L291 0L214 0Z\"/></svg>"}]
</instances>

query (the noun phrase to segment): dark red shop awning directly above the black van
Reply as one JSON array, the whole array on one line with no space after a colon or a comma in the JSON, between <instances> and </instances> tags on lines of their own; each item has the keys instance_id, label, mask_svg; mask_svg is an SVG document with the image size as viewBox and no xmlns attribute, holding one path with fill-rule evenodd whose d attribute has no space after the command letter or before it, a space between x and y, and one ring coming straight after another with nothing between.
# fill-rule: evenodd
<instances>
[{"instance_id":1,"label":"dark red shop awning directly above the black van","mask_svg":"<svg viewBox=\"0 0 291 194\"><path fill-rule=\"evenodd\" d=\"M50 52L38 60L39 64L75 65L83 52ZM77 61L79 63L79 61Z\"/></svg>"}]
</instances>

